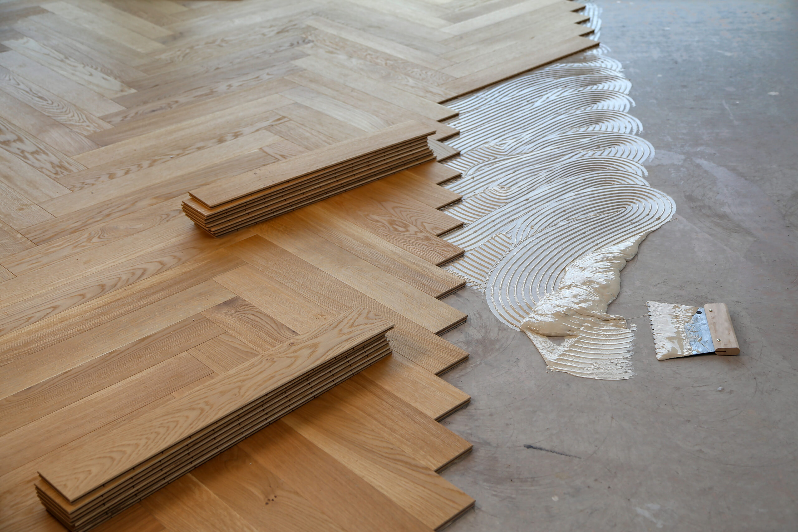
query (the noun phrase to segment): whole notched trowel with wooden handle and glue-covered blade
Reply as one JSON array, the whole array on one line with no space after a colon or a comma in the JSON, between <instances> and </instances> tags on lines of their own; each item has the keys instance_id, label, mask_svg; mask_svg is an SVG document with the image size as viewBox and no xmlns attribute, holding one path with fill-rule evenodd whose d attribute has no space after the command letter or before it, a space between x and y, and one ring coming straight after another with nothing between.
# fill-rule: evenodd
<instances>
[{"instance_id":1,"label":"whole notched trowel with wooden handle and glue-covered blade","mask_svg":"<svg viewBox=\"0 0 798 532\"><path fill-rule=\"evenodd\" d=\"M701 353L740 354L729 308L724 303L697 307L646 301L646 305L658 361Z\"/></svg>"}]
</instances>

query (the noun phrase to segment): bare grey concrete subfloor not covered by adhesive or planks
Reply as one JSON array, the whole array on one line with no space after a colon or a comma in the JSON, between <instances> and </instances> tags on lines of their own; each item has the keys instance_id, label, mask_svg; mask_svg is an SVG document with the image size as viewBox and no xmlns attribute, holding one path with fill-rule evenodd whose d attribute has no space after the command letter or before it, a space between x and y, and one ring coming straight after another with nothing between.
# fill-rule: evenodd
<instances>
[{"instance_id":1,"label":"bare grey concrete subfloor not covered by adhesive or planks","mask_svg":"<svg viewBox=\"0 0 798 532\"><path fill-rule=\"evenodd\" d=\"M798 2L599 2L650 183L677 219L643 242L609 312L636 324L630 380L547 372L482 294L446 299L474 443L444 476L476 498L448 530L798 530ZM739 357L654 358L646 301L725 302Z\"/></svg>"}]
</instances>

